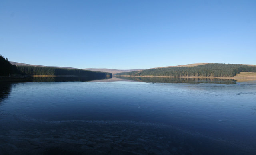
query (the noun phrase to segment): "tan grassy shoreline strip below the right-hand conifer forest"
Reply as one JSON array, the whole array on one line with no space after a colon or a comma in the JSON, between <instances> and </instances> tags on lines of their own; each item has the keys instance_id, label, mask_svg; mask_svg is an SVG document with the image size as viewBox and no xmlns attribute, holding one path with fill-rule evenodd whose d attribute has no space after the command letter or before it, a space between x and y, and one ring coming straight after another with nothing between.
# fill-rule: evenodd
<instances>
[{"instance_id":1,"label":"tan grassy shoreline strip below the right-hand conifer forest","mask_svg":"<svg viewBox=\"0 0 256 155\"><path fill-rule=\"evenodd\" d=\"M183 76L183 77L174 77L174 76L152 76L152 75L144 75L144 76L132 76L132 75L118 75L120 77L159 77L159 78L218 78L218 79L234 79L238 82L240 81L252 81L256 80L255 72L240 72L238 75L234 77L194 77L194 76ZM117 76L117 77L118 77Z\"/></svg>"}]
</instances>

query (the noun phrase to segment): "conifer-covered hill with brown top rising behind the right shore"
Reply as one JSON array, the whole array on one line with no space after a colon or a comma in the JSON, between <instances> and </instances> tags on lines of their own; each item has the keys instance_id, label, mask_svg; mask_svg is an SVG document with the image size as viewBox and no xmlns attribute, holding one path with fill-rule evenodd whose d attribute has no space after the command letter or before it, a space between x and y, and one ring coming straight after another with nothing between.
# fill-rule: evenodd
<instances>
[{"instance_id":1,"label":"conifer-covered hill with brown top rising behind the right shore","mask_svg":"<svg viewBox=\"0 0 256 155\"><path fill-rule=\"evenodd\" d=\"M117 76L162 76L162 77L234 77L240 72L256 72L256 65L207 63L176 67L159 67L117 73Z\"/></svg>"}]
</instances>

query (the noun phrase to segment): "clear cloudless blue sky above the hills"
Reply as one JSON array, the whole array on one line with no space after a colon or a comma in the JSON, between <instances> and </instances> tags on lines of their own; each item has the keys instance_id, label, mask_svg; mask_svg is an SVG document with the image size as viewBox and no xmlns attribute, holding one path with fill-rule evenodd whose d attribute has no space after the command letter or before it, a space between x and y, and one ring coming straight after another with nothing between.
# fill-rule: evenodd
<instances>
[{"instance_id":1,"label":"clear cloudless blue sky above the hills","mask_svg":"<svg viewBox=\"0 0 256 155\"><path fill-rule=\"evenodd\" d=\"M0 0L0 54L76 68L256 64L256 0Z\"/></svg>"}]
</instances>

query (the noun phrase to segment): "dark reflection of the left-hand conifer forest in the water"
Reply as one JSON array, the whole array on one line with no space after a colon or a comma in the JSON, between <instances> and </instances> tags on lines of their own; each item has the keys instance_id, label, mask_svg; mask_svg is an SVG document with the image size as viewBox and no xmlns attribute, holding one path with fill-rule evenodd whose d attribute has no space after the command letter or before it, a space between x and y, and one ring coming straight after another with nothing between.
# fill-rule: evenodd
<instances>
[{"instance_id":1,"label":"dark reflection of the left-hand conifer forest in the water","mask_svg":"<svg viewBox=\"0 0 256 155\"><path fill-rule=\"evenodd\" d=\"M32 82L67 82L67 81L93 81L109 79L111 77L96 76L96 77L33 77Z\"/></svg>"}]
</instances>

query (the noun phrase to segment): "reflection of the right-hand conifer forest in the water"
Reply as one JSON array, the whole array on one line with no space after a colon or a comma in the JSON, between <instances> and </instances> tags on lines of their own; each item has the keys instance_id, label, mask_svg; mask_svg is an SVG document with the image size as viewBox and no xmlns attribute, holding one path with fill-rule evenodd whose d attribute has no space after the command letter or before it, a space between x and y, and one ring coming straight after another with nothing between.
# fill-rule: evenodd
<instances>
[{"instance_id":1,"label":"reflection of the right-hand conifer forest in the water","mask_svg":"<svg viewBox=\"0 0 256 155\"><path fill-rule=\"evenodd\" d=\"M218 78L161 78L161 77L117 77L120 79L134 80L150 83L219 83L219 84L236 84L233 79L218 79Z\"/></svg>"}]
</instances>

